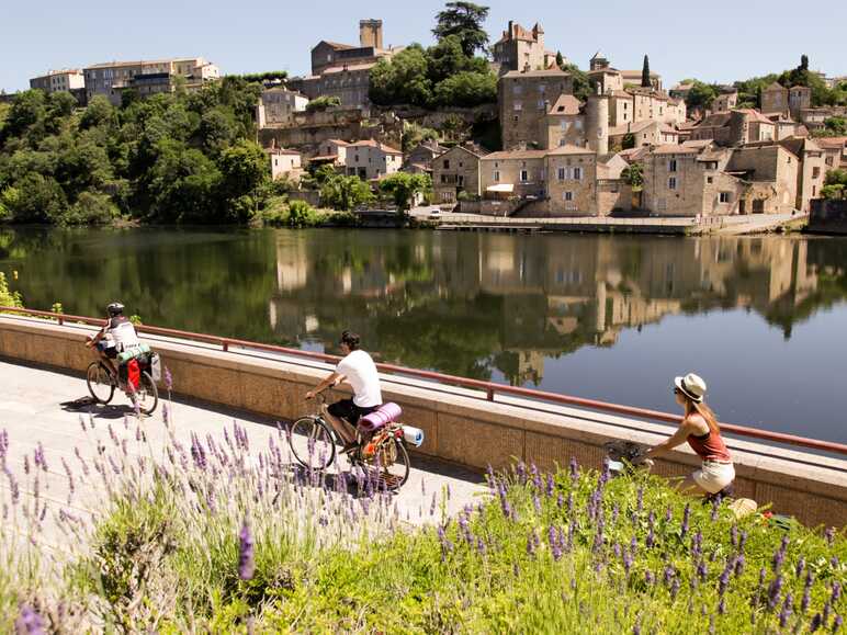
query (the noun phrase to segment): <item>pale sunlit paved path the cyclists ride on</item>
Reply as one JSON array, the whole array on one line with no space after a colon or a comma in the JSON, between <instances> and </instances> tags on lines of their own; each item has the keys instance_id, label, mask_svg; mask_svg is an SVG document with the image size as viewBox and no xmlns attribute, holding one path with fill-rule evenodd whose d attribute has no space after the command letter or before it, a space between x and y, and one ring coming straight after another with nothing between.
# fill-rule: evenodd
<instances>
[{"instance_id":1,"label":"pale sunlit paved path the cyclists ride on","mask_svg":"<svg viewBox=\"0 0 847 635\"><path fill-rule=\"evenodd\" d=\"M8 474L0 474L0 506L8 506L0 517L0 528L3 530L23 522L8 513L12 507L12 480L18 484L23 501L32 502L37 487L39 500L47 501L54 510L59 508L70 513L87 514L97 509L105 491L94 486L77 485L72 504L69 504L69 483L63 461L78 469L80 463L76 456L77 450L84 458L91 458L98 452L98 443L111 443L113 433L118 440L127 439L126 447L131 456L134 452L149 452L149 447L142 450L139 444L134 443L136 429L144 430L149 446L163 446L167 432L162 422L161 401L151 418L139 421L121 393L116 393L109 406L80 409L68 405L87 395L86 382L80 377L0 361L0 435L3 430L8 433L5 464L12 474L12 478ZM207 434L216 440L222 439L224 428L229 427L231 430L234 420L247 430L251 447L268 447L269 438L278 434L272 420L204 404L174 401L170 404L170 416L176 423L177 438L185 445L190 445L192 432L201 439ZM35 486L34 455L39 443L47 470L38 473L38 485ZM25 470L25 456L30 464L29 474ZM425 523L432 518L430 509L433 492L442 492L439 496L440 508L443 492L449 490L445 497L449 513L455 513L465 504L475 502L484 492L483 478L476 473L422 457L413 457L411 463L409 480L396 495L400 518L411 523ZM341 461L340 469L350 469L346 458ZM45 528L45 537L53 544L60 544L64 540L64 534L57 528Z\"/></svg>"}]
</instances>

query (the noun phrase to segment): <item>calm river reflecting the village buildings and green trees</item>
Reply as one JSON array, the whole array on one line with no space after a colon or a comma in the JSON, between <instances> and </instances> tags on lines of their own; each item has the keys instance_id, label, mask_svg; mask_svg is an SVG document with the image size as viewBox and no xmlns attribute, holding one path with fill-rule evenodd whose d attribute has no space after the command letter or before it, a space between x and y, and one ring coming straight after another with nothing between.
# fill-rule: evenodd
<instances>
[{"instance_id":1,"label":"calm river reflecting the village buildings and green trees","mask_svg":"<svg viewBox=\"0 0 847 635\"><path fill-rule=\"evenodd\" d=\"M0 230L32 308L335 351L847 442L847 239Z\"/></svg>"}]
</instances>

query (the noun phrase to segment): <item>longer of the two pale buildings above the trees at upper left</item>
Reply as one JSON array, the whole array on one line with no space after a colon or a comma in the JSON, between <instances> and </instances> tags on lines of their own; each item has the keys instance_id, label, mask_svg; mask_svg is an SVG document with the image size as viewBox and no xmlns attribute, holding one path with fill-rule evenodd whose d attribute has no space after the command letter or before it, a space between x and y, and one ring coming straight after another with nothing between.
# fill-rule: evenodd
<instances>
[{"instance_id":1,"label":"longer of the two pale buildings above the trees at upper left","mask_svg":"<svg viewBox=\"0 0 847 635\"><path fill-rule=\"evenodd\" d=\"M87 101L104 95L114 105L121 104L124 89L135 88L142 94L170 92L176 87L173 78L180 77L188 90L196 90L221 77L217 66L202 57L108 61L89 66L82 73ZM146 77L150 75L156 77Z\"/></svg>"}]
</instances>

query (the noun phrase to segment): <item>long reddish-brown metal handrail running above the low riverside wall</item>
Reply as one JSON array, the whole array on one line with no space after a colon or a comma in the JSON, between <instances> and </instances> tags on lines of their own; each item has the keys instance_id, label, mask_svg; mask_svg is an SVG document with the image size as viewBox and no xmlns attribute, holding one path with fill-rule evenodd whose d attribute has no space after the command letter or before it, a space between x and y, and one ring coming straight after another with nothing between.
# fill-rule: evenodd
<instances>
[{"instance_id":1,"label":"long reddish-brown metal handrail running above the low riverside wall","mask_svg":"<svg viewBox=\"0 0 847 635\"><path fill-rule=\"evenodd\" d=\"M21 307L0 306L0 313L14 313L14 314L21 314L24 316L48 318L48 319L57 320L59 325L64 325L65 322L81 322L86 325L103 326L105 324L105 319L58 314L58 313L46 311L46 310L34 310L34 309L27 309L27 308L21 308ZM249 340L239 340L237 338L222 338L219 336L211 336L206 333L194 333L191 331L181 331L178 329L168 329L168 328L153 327L147 325L138 325L136 329L140 332L146 332L150 334L172 337L172 338L179 338L184 340L192 340L196 342L203 342L207 344L219 345L224 351L227 351L227 352L231 352L230 348L236 347L241 349L252 349L257 351L283 353L285 355L304 358L304 359L309 359L309 360L315 360L320 362L338 362L341 359L338 355L329 355L326 353L302 351L300 349L290 349L286 347L279 347L276 344L251 342ZM646 408L636 408L633 406L623 406L621 404L611 404L609 401L598 401L596 399L573 397L569 395L561 395L558 393L546 393L544 390L534 390L532 388L506 386L502 384L495 384L493 382L484 382L482 379L471 379L470 377L445 375L443 373L437 373L433 371L420 371L417 368L408 368L405 366L398 366L396 364L377 363L376 367L380 371L385 373L405 375L407 377L429 379L429 381L438 382L440 384L448 384L453 386L460 386L463 388L482 390L485 393L486 399L489 401L494 401L494 397L496 394L512 395L516 397L526 397L530 399L550 401L553 404L578 406L581 408L589 408L591 410L612 412L616 415L626 415L630 417L636 417L639 419L663 421L667 423L679 423L680 421L680 417L678 415L671 415L669 412L662 412L658 410L650 410ZM772 443L798 445L798 446L809 447L809 449L817 450L822 452L832 452L834 454L847 455L847 445L843 443L836 443L833 441L822 441L818 439L808 439L805 436L784 434L782 432L770 432L768 430L761 430L758 428L748 428L745 426L737 426L734 423L722 422L720 423L720 426L723 431L729 432L731 434L736 434L739 436L748 436L750 439L770 441Z\"/></svg>"}]
</instances>

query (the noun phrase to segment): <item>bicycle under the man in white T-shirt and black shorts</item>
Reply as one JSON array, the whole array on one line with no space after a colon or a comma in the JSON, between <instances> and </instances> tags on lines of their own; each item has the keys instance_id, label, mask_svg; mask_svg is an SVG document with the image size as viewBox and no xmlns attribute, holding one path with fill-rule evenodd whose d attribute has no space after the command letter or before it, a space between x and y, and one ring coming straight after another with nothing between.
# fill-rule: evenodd
<instances>
[{"instance_id":1,"label":"bicycle under the man in white T-shirt and black shorts","mask_svg":"<svg viewBox=\"0 0 847 635\"><path fill-rule=\"evenodd\" d=\"M289 428L291 452L303 467L324 472L336 461L336 444L343 445L343 439L327 422L326 397L315 395L317 412L301 417ZM305 438L305 447L295 443L295 438ZM393 421L369 434L357 427L358 445L348 454L350 464L363 469L376 469L377 479L388 489L399 489L409 477L409 453L404 441L403 426ZM300 446L298 446L300 445Z\"/></svg>"}]
</instances>

